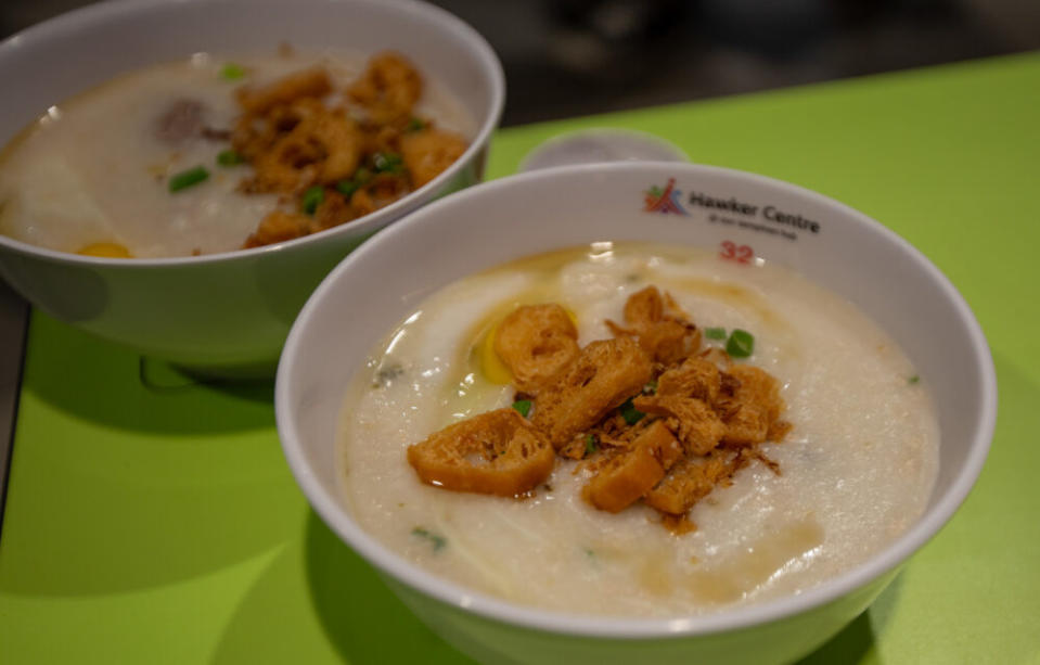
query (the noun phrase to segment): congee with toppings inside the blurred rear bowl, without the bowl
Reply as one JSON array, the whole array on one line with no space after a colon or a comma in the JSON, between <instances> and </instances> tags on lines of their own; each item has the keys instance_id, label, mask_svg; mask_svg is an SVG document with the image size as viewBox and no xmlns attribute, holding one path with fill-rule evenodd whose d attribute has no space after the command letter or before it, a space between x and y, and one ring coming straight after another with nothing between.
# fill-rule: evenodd
<instances>
[{"instance_id":1,"label":"congee with toppings inside the blurred rear bowl, without the bowl","mask_svg":"<svg viewBox=\"0 0 1040 665\"><path fill-rule=\"evenodd\" d=\"M428 182L475 133L393 52L197 53L55 103L0 153L0 233L110 257L228 252L349 222Z\"/></svg>"}]
</instances>

